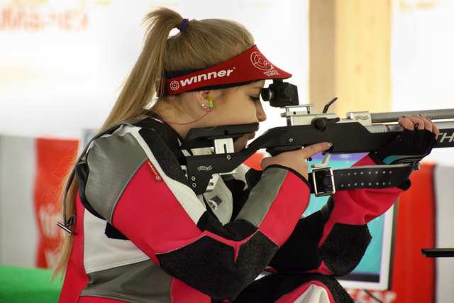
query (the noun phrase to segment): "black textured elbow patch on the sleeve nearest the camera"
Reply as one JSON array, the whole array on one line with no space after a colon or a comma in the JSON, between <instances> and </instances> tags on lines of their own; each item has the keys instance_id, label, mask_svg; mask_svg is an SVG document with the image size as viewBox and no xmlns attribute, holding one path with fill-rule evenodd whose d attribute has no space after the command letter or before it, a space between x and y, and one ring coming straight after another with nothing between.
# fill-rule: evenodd
<instances>
[{"instance_id":1,"label":"black textured elbow patch on the sleeve nearest the camera","mask_svg":"<svg viewBox=\"0 0 454 303\"><path fill-rule=\"evenodd\" d=\"M157 254L165 272L217 300L235 299L265 269L279 247L260 231L235 250L203 236L188 246Z\"/></svg>"}]
</instances>

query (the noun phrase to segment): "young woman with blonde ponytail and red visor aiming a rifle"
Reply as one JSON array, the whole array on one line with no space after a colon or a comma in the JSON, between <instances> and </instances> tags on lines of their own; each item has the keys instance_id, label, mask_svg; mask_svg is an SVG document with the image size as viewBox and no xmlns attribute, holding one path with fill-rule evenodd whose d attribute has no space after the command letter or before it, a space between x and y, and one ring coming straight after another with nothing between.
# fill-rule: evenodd
<instances>
[{"instance_id":1,"label":"young woman with blonde ponytail and red visor aiming a rifle","mask_svg":"<svg viewBox=\"0 0 454 303\"><path fill-rule=\"evenodd\" d=\"M365 224L409 182L338 192L301 219L305 159L331 146L318 143L262 160L255 186L242 165L195 194L185 156L210 150L183 150L189 129L265 121L265 79L291 75L233 21L188 21L169 9L147 20L143 52L68 183L60 302L352 302L334 276L355 268L370 241ZM356 165L430 151L431 121L399 123L409 130L406 149L393 143ZM264 270L272 273L257 280Z\"/></svg>"}]
</instances>

